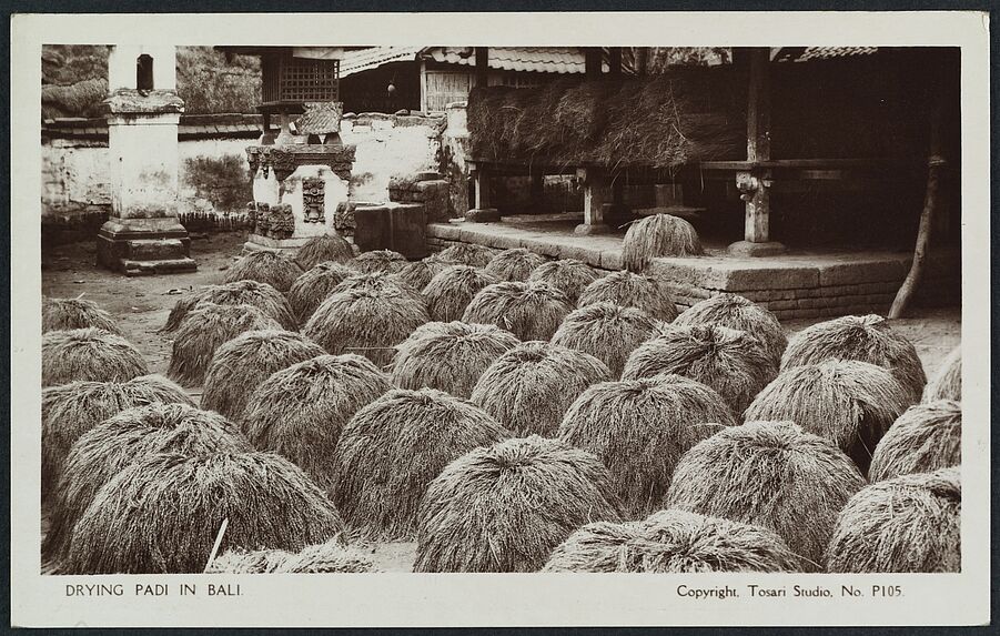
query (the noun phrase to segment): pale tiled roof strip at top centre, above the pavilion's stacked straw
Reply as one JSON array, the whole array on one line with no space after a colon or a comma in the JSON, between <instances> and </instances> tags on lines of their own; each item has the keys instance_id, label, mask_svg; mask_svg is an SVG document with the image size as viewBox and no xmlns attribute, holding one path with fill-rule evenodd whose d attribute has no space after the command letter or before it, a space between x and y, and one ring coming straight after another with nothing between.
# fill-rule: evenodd
<instances>
[{"instance_id":1,"label":"pale tiled roof strip at top centre, above the pavilion's stacked straw","mask_svg":"<svg viewBox=\"0 0 1000 636\"><path fill-rule=\"evenodd\" d=\"M450 64L476 64L472 47L431 47L423 57ZM583 73L586 70L584 52L578 47L489 47L491 69L502 71L532 71L539 73ZM607 63L604 63L607 70Z\"/></svg>"}]
</instances>

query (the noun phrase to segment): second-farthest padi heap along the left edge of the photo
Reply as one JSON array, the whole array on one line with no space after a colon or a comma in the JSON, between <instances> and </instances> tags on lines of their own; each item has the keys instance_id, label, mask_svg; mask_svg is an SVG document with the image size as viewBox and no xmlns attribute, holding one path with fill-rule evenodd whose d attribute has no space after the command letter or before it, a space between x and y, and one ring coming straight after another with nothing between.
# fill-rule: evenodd
<instances>
[{"instance_id":1,"label":"second-farthest padi heap along the left edge of the photo","mask_svg":"<svg viewBox=\"0 0 1000 636\"><path fill-rule=\"evenodd\" d=\"M42 335L42 386L75 381L125 382L149 374L129 341L97 327Z\"/></svg>"}]
</instances>

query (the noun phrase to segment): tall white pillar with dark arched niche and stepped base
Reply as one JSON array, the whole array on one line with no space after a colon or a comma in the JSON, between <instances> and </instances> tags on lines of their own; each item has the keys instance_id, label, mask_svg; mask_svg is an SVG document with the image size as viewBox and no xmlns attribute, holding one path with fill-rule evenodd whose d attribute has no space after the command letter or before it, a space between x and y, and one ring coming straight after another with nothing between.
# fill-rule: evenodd
<instances>
[{"instance_id":1,"label":"tall white pillar with dark arched niche and stepped base","mask_svg":"<svg viewBox=\"0 0 1000 636\"><path fill-rule=\"evenodd\" d=\"M174 47L118 44L108 59L111 215L98 233L98 264L127 275L193 272L178 220Z\"/></svg>"}]
</instances>

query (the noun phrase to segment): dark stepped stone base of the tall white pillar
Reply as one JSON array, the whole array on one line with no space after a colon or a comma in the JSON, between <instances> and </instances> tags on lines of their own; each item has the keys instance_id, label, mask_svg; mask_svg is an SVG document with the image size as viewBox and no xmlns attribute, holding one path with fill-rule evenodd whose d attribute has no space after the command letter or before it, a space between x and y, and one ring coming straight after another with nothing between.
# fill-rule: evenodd
<instances>
[{"instance_id":1,"label":"dark stepped stone base of the tall white pillar","mask_svg":"<svg viewBox=\"0 0 1000 636\"><path fill-rule=\"evenodd\" d=\"M98 232L97 263L127 276L193 272L191 239L175 218L111 219Z\"/></svg>"}]
</instances>

